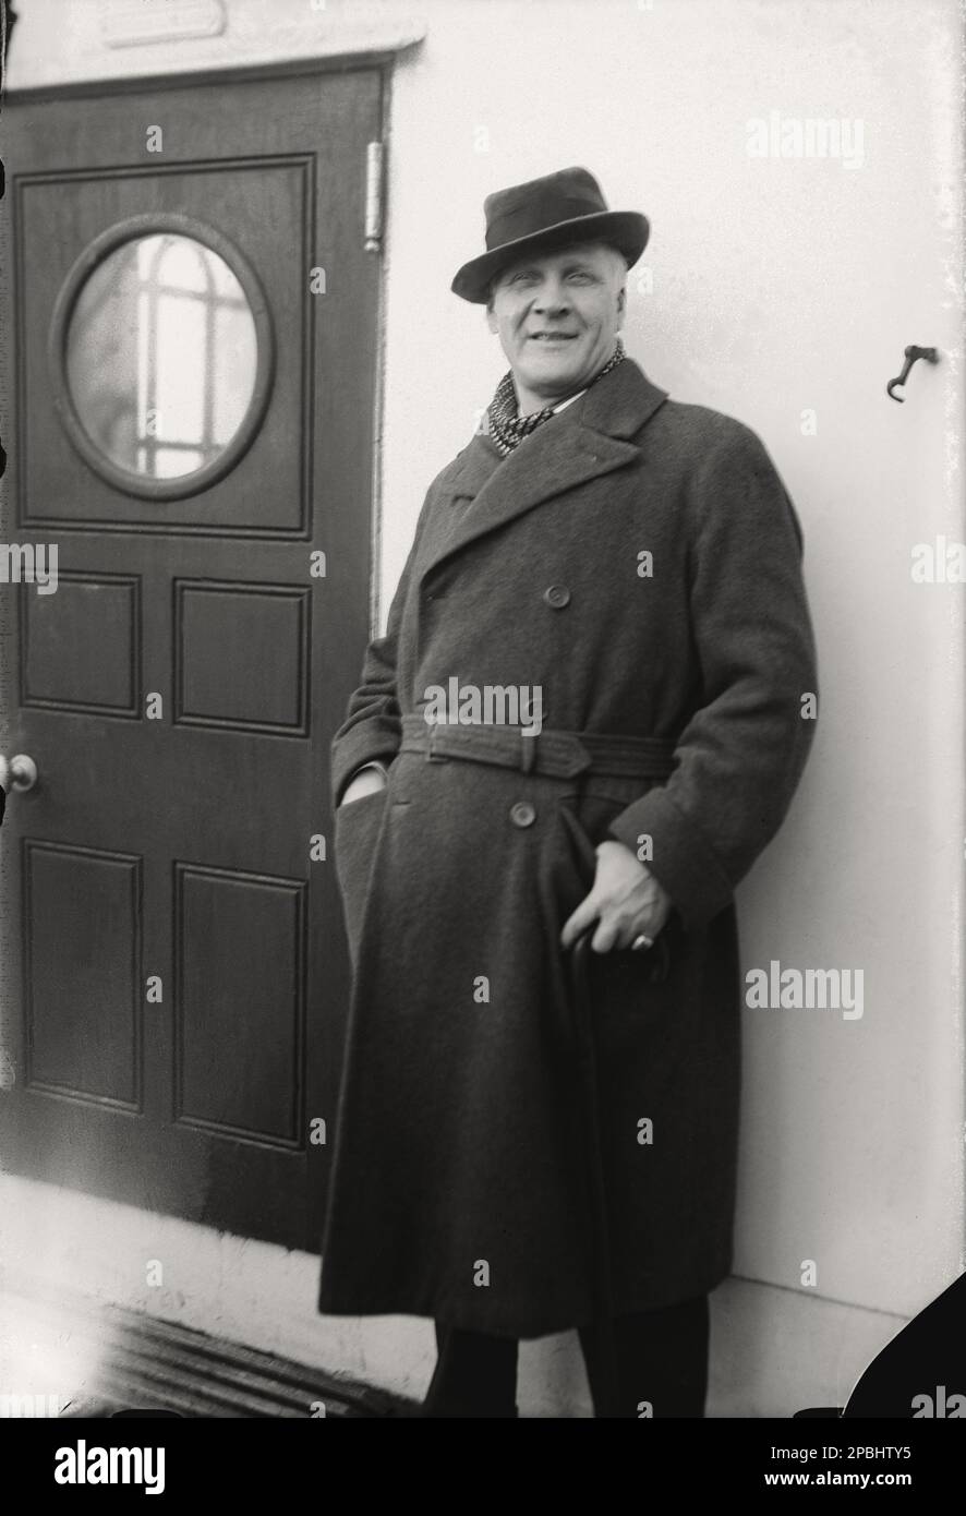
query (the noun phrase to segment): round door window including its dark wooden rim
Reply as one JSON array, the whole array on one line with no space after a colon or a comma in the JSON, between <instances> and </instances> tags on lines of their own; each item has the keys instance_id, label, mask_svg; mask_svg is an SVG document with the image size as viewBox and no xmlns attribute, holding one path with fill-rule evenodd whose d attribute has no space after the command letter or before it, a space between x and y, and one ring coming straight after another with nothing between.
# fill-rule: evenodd
<instances>
[{"instance_id":1,"label":"round door window including its dark wooden rim","mask_svg":"<svg viewBox=\"0 0 966 1516\"><path fill-rule=\"evenodd\" d=\"M232 467L264 414L267 311L253 271L209 229L130 233L99 238L68 276L52 332L58 408L108 482L194 494Z\"/></svg>"}]
</instances>

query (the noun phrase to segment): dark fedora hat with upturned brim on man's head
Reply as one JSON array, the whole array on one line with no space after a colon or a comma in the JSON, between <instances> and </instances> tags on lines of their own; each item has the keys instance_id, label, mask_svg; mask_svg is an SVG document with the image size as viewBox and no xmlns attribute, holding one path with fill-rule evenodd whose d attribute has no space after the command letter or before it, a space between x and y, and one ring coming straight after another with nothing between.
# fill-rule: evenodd
<instances>
[{"instance_id":1,"label":"dark fedora hat with upturned brim on man's head","mask_svg":"<svg viewBox=\"0 0 966 1516\"><path fill-rule=\"evenodd\" d=\"M629 268L651 233L640 211L608 211L601 185L585 168L561 168L497 190L484 200L484 214L487 252L464 264L450 285L455 294L476 305L485 305L500 268L528 253L554 252L570 243L610 243Z\"/></svg>"}]
</instances>

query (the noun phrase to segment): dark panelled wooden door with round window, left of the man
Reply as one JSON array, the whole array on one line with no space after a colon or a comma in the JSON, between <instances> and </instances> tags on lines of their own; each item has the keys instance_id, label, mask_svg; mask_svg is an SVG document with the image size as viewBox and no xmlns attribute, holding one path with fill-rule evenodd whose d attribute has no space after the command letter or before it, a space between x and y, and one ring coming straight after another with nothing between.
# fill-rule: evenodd
<instances>
[{"instance_id":1,"label":"dark panelled wooden door with round window, left of the man","mask_svg":"<svg viewBox=\"0 0 966 1516\"><path fill-rule=\"evenodd\" d=\"M3 540L56 547L55 590L0 587L3 753L38 769L0 832L2 1161L317 1249L381 74L11 96L0 126Z\"/></svg>"}]
</instances>

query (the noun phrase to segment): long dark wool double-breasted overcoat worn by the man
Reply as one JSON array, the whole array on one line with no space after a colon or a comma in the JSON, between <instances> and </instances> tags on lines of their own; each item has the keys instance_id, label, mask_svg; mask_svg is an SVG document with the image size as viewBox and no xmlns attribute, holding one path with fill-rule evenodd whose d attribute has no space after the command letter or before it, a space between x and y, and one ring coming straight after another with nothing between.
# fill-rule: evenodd
<instances>
[{"instance_id":1,"label":"long dark wool double-breasted overcoat worn by the man","mask_svg":"<svg viewBox=\"0 0 966 1516\"><path fill-rule=\"evenodd\" d=\"M605 838L675 905L663 979L651 954L590 961L611 1307L661 1307L728 1273L732 891L811 741L801 555L755 434L669 400L631 359L507 458L478 434L432 482L334 741L337 800L369 760L390 779L337 810L355 976L320 1311L513 1337L593 1319L560 931ZM538 687L543 734L664 738L673 769L560 776L478 761L482 747L429 761L400 741L402 717L453 678Z\"/></svg>"}]
</instances>

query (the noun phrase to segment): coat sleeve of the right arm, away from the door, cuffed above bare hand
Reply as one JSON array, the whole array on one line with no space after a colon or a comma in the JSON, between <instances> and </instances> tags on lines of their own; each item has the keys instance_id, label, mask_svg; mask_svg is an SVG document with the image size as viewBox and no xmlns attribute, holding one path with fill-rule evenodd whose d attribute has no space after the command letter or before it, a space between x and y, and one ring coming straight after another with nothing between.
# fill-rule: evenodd
<instances>
[{"instance_id":1,"label":"coat sleeve of the right arm, away from the door, cuffed above bare hand","mask_svg":"<svg viewBox=\"0 0 966 1516\"><path fill-rule=\"evenodd\" d=\"M817 702L802 532L760 440L731 421L693 476L690 629L699 694L666 784L610 831L637 854L685 928L710 922L778 831L801 778Z\"/></svg>"}]
</instances>

